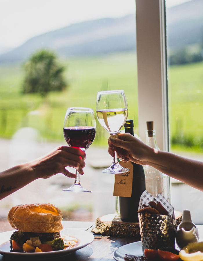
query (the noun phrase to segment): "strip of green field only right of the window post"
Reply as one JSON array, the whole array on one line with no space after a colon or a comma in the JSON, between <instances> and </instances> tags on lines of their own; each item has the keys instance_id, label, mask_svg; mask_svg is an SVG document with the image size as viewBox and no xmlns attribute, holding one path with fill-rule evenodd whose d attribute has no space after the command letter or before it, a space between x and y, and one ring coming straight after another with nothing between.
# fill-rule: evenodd
<instances>
[{"instance_id":1,"label":"strip of green field only right of the window post","mask_svg":"<svg viewBox=\"0 0 203 261\"><path fill-rule=\"evenodd\" d=\"M172 144L203 151L203 63L172 66L169 76Z\"/></svg>"}]
</instances>

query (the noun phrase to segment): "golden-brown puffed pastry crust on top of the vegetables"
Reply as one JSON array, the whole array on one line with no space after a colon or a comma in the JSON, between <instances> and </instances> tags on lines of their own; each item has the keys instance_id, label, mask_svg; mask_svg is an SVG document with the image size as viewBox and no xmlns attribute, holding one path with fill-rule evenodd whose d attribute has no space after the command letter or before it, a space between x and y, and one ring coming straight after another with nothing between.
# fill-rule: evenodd
<instances>
[{"instance_id":1,"label":"golden-brown puffed pastry crust on top of the vegetables","mask_svg":"<svg viewBox=\"0 0 203 261\"><path fill-rule=\"evenodd\" d=\"M61 210L52 204L21 204L8 213L12 228L23 232L56 233L63 229Z\"/></svg>"}]
</instances>

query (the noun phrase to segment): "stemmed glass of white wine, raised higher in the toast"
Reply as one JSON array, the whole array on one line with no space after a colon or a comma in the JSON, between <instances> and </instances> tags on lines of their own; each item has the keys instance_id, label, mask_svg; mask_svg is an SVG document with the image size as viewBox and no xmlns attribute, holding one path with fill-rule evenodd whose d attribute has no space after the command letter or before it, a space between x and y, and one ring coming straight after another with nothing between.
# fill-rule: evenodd
<instances>
[{"instance_id":1,"label":"stemmed glass of white wine, raised higher in the toast","mask_svg":"<svg viewBox=\"0 0 203 261\"><path fill-rule=\"evenodd\" d=\"M97 119L102 127L110 133L111 137L116 138L128 117L128 104L124 90L98 92L96 112ZM129 171L128 168L123 168L118 163L115 151L112 165L102 172L118 174L127 171Z\"/></svg>"}]
</instances>

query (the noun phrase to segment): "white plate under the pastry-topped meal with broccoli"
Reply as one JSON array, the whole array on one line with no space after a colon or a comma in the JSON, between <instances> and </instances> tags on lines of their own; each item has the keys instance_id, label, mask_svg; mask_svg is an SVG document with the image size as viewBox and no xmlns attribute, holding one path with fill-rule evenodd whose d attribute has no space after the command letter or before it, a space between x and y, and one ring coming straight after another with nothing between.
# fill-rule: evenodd
<instances>
[{"instance_id":1,"label":"white plate under the pastry-topped meal with broccoli","mask_svg":"<svg viewBox=\"0 0 203 261\"><path fill-rule=\"evenodd\" d=\"M10 240L10 236L15 230L12 231L7 231L0 233L0 245L3 244L4 242L7 242ZM83 247L86 247L88 244L93 242L94 240L94 235L84 231L84 230L79 230L79 229L72 229L72 228L64 228L61 230L61 235L68 235L68 236L73 236L77 238L79 241L79 244L71 249L64 249L64 250L59 250L59 251L52 251L52 252L39 252L39 253L19 253L19 252L7 252L7 251L1 251L0 247L0 254L1 255L10 255L11 257L19 256L19 257L35 257L35 258L55 258L55 257L61 257L65 255L69 255L70 253L81 249Z\"/></svg>"}]
</instances>

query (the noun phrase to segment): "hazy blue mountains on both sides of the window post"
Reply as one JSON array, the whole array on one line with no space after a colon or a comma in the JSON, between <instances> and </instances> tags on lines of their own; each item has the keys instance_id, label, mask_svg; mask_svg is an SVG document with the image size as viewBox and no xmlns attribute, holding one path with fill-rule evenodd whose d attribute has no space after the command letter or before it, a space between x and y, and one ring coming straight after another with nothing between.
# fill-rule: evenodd
<instances>
[{"instance_id":1,"label":"hazy blue mountains on both sides of the window post","mask_svg":"<svg viewBox=\"0 0 203 261\"><path fill-rule=\"evenodd\" d=\"M167 10L168 46L178 48L203 41L203 0L193 0ZM61 57L93 55L136 49L135 15L75 23L47 32L0 55L0 63L24 61L42 48Z\"/></svg>"}]
</instances>

